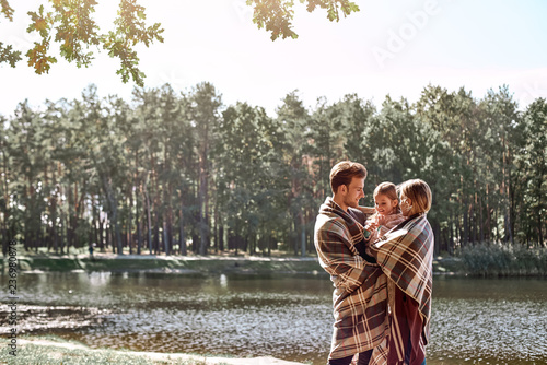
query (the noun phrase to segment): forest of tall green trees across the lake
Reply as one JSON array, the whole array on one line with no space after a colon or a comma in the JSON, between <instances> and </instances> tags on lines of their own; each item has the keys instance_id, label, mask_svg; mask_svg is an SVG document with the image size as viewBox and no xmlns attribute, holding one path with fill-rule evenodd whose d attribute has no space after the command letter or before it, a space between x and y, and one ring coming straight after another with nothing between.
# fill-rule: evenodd
<instances>
[{"instance_id":1,"label":"forest of tall green trees across the lake","mask_svg":"<svg viewBox=\"0 0 547 365\"><path fill-rule=\"evenodd\" d=\"M203 82L136 87L131 101L22 102L0 116L3 250L66 254L306 256L339 161L379 182L426 180L435 252L498 243L545 247L547 103L520 109L508 86L484 97L426 86L416 103L356 94L306 107L298 91L276 115L224 105Z\"/></svg>"}]
</instances>

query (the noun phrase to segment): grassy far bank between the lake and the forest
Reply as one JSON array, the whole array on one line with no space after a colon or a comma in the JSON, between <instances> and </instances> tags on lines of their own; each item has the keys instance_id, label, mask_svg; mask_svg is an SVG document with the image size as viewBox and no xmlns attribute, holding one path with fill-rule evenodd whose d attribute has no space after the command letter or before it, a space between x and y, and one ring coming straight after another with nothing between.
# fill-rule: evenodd
<instances>
[{"instance_id":1,"label":"grassy far bank between the lake and the forest","mask_svg":"<svg viewBox=\"0 0 547 365\"><path fill-rule=\"evenodd\" d=\"M159 271L182 273L309 273L325 274L317 258L256 256L165 256L165 255L22 255L20 271ZM7 270L8 260L1 261ZM462 249L458 257L435 257L435 274L472 276L547 276L547 249L520 245L480 244Z\"/></svg>"}]
</instances>

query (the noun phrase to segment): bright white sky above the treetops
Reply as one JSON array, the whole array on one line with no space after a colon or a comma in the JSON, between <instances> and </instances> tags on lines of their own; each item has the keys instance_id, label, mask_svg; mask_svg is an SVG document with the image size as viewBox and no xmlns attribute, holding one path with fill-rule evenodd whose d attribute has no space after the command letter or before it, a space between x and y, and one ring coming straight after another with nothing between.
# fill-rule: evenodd
<instances>
[{"instance_id":1,"label":"bright white sky above the treetops","mask_svg":"<svg viewBox=\"0 0 547 365\"><path fill-rule=\"evenodd\" d=\"M9 2L14 21L0 17L0 42L25 54L36 39L26 33L26 13L45 0ZM545 0L354 0L360 12L338 23L294 2L299 38L272 42L245 0L140 0L149 24L165 30L163 44L138 48L146 87L188 92L207 81L225 105L247 102L271 116L294 90L311 109L318 98L335 103L353 93L379 107L386 95L412 103L428 84L464 87L476 98L508 85L521 109L547 98ZM106 31L117 1L98 3L95 20ZM130 102L135 84L124 84L118 68L104 51L89 68L58 58L43 75L25 60L15 69L1 63L0 115L13 115L25 99L39 107L80 98L92 83L101 96Z\"/></svg>"}]
</instances>

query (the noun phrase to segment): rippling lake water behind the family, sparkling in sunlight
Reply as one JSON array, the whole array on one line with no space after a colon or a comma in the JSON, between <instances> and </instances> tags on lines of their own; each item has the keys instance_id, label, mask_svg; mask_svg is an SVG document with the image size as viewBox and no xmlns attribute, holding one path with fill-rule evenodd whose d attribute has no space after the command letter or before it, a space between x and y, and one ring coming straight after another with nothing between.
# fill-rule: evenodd
<instances>
[{"instance_id":1,"label":"rippling lake water behind the family, sparkling in sunlight","mask_svg":"<svg viewBox=\"0 0 547 365\"><path fill-rule=\"evenodd\" d=\"M49 272L22 273L18 284L19 330L30 334L312 364L328 354L324 274ZM428 364L547 364L547 280L435 276L431 332Z\"/></svg>"}]
</instances>

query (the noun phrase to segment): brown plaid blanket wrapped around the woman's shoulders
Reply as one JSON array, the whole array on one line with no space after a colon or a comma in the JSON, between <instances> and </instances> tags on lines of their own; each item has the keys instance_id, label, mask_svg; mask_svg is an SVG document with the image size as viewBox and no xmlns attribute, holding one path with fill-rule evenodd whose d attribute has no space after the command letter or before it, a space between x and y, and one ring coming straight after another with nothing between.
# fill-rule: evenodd
<instances>
[{"instance_id":1,"label":"brown plaid blanket wrapped around the woman's shoulders","mask_svg":"<svg viewBox=\"0 0 547 365\"><path fill-rule=\"evenodd\" d=\"M429 342L431 317L433 242L431 225L421 214L411 216L369 248L387 276L418 303L424 344Z\"/></svg>"}]
</instances>

